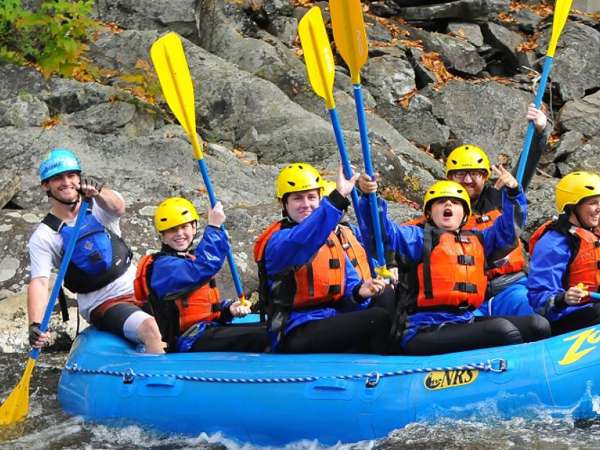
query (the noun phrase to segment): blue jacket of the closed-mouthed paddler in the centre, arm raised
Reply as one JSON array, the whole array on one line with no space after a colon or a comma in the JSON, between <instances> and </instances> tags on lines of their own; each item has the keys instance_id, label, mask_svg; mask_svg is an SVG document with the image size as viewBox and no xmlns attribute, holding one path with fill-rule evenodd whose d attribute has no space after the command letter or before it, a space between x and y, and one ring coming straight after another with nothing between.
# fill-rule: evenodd
<instances>
[{"instance_id":1,"label":"blue jacket of the closed-mouthed paddler in the centre, arm raised","mask_svg":"<svg viewBox=\"0 0 600 450\"><path fill-rule=\"evenodd\" d=\"M267 243L264 255L269 288L273 277L277 274L310 261L313 255L326 244L327 238L335 230L342 216L343 211L337 209L329 198L325 197L319 207L301 223L274 233ZM313 320L327 319L338 312L358 309L359 305L354 302L353 293L360 288L361 284L358 272L346 256L344 299L331 307L292 311L288 317L285 333Z\"/></svg>"}]
</instances>

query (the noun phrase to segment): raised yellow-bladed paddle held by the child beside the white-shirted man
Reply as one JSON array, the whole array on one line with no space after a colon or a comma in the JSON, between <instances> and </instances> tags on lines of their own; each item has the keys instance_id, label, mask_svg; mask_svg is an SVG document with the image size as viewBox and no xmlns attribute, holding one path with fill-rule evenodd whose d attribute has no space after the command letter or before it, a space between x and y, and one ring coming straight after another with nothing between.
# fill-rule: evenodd
<instances>
[{"instance_id":1,"label":"raised yellow-bladed paddle held by the child beside the white-shirted man","mask_svg":"<svg viewBox=\"0 0 600 450\"><path fill-rule=\"evenodd\" d=\"M190 68L185 58L183 44L176 33L167 33L152 44L150 49L150 57L154 63L154 69L158 75L160 86L163 95L177 117L177 120L189 136L194 150L194 157L198 161L198 167L204 180L204 185L208 191L208 198L211 207L217 203L217 197L212 187L212 182L208 175L208 169L204 162L204 154L198 135L196 133L196 107L194 104L194 86L192 85L192 77ZM225 231L225 227L221 225L221 229ZM235 291L239 300L243 304L247 304L242 282L238 274L231 246L227 249L227 262L231 271L231 277L235 285Z\"/></svg>"}]
</instances>

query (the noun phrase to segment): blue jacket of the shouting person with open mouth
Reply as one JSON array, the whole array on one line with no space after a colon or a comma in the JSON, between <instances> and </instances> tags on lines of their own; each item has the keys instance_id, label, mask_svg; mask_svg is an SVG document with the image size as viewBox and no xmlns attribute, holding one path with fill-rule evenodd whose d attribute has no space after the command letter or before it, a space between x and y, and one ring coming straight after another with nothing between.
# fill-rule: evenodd
<instances>
[{"instance_id":1,"label":"blue jacket of the shouting person with open mouth","mask_svg":"<svg viewBox=\"0 0 600 450\"><path fill-rule=\"evenodd\" d=\"M393 252L402 255L407 261L418 264L423 259L423 228L413 225L398 225L391 221L387 215L387 203L378 199L382 211L382 226L384 234L384 245ZM359 214L366 227L361 230L367 242L374 242L370 210L366 197L360 200ZM486 257L496 252L507 252L514 248L515 240L518 238L515 225L521 228L527 220L527 199L519 188L511 192L502 189L502 215L490 228L481 232L483 235ZM371 246L367 247L371 249ZM423 311L411 314L407 319L406 330L401 342L405 346L419 330L434 328L445 323L468 323L473 320L473 312L432 312Z\"/></svg>"}]
</instances>

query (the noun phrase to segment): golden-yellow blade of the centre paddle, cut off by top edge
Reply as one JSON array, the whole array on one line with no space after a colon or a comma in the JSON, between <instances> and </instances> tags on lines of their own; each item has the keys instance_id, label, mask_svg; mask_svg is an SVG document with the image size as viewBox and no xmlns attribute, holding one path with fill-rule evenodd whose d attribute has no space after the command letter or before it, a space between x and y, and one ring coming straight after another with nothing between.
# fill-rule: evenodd
<instances>
[{"instance_id":1,"label":"golden-yellow blade of the centre paddle, cut off by top edge","mask_svg":"<svg viewBox=\"0 0 600 450\"><path fill-rule=\"evenodd\" d=\"M333 38L338 52L350 69L353 84L360 84L360 68L369 57L360 0L329 0Z\"/></svg>"}]
</instances>

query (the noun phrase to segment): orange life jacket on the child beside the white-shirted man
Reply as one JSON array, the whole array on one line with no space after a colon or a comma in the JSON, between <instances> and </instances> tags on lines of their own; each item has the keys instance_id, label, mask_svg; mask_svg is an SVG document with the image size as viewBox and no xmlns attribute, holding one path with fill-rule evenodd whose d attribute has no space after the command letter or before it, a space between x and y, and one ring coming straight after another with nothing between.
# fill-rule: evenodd
<instances>
[{"instance_id":1,"label":"orange life jacket on the child beside the white-shirted man","mask_svg":"<svg viewBox=\"0 0 600 450\"><path fill-rule=\"evenodd\" d=\"M135 280L133 282L135 298L142 302L149 302L152 311L159 323L165 320L173 320L165 313L167 308L165 303L173 299L154 299L149 284L149 269L154 261L161 256L160 253L142 256L138 263ZM191 257L191 255L190 255ZM175 275L176 276L176 275ZM214 279L204 283L202 286L182 294L174 299L178 312L179 332L183 333L192 325L198 322L210 322L217 320L221 316L219 289L216 287ZM161 330L162 331L162 330Z\"/></svg>"}]
</instances>

